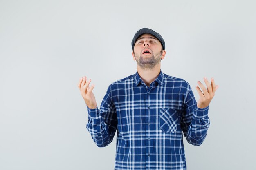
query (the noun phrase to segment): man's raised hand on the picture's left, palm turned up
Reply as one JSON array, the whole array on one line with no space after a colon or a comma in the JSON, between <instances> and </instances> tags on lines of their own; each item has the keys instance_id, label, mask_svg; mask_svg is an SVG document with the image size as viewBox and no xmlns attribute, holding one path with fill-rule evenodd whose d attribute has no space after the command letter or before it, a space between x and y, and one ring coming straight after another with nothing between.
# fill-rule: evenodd
<instances>
[{"instance_id":1,"label":"man's raised hand on the picture's left, palm turned up","mask_svg":"<svg viewBox=\"0 0 256 170\"><path fill-rule=\"evenodd\" d=\"M95 96L92 93L94 84L92 84L92 86L89 87L90 82L91 82L91 79L89 79L86 82L86 77L84 76L79 79L77 86L81 92L81 95L85 101L85 104L88 106L88 108L94 109L94 108L97 108L97 103L96 103Z\"/></svg>"}]
</instances>

